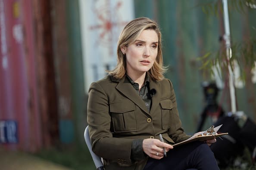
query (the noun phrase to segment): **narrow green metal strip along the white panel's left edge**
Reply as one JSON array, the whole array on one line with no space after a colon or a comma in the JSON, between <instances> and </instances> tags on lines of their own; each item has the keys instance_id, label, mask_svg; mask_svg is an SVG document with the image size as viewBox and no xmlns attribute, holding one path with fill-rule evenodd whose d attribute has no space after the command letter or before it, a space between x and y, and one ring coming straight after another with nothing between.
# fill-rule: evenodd
<instances>
[{"instance_id":1,"label":"narrow green metal strip along the white panel's left edge","mask_svg":"<svg viewBox=\"0 0 256 170\"><path fill-rule=\"evenodd\" d=\"M75 129L75 140L84 146L84 129L87 125L87 96L84 93L84 74L81 49L81 31L79 19L78 0L66 0L68 8L66 14L68 43L69 43L69 67L72 92L72 113Z\"/></svg>"}]
</instances>

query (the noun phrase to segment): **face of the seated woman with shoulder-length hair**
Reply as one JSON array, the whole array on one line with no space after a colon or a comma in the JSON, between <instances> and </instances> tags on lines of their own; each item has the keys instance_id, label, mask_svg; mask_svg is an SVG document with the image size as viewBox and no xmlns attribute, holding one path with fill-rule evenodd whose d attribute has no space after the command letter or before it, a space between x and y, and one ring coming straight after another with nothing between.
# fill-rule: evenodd
<instances>
[{"instance_id":1,"label":"face of the seated woman with shoulder-length hair","mask_svg":"<svg viewBox=\"0 0 256 170\"><path fill-rule=\"evenodd\" d=\"M146 73L156 61L158 36L155 30L143 30L134 43L121 48L126 54L128 75Z\"/></svg>"}]
</instances>

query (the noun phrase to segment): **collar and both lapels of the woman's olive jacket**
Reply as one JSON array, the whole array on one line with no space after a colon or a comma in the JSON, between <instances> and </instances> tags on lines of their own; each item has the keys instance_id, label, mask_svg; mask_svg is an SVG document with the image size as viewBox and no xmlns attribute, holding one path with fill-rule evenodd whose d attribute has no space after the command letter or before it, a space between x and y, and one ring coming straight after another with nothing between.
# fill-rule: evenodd
<instances>
[{"instance_id":1,"label":"collar and both lapels of the woman's olive jacket","mask_svg":"<svg viewBox=\"0 0 256 170\"><path fill-rule=\"evenodd\" d=\"M150 114L147 110L147 107L146 107L144 101L141 99L139 94L137 94L137 92L134 90L134 88L131 85L131 82L129 82L129 80L126 78L126 76L124 76L122 79L116 79L115 77L111 76L111 80L112 80L112 82L118 82L118 84L116 85L116 89L118 91L120 91L123 95L125 95L131 101L133 101L144 112L146 112L147 114ZM154 94L152 97L152 106L150 109L150 112L153 112L159 106L159 101L160 101L160 97L161 97L161 89L160 89L159 82L154 82L151 79L149 81L150 81L149 90L151 90L151 89L156 90L156 94Z\"/></svg>"}]
</instances>

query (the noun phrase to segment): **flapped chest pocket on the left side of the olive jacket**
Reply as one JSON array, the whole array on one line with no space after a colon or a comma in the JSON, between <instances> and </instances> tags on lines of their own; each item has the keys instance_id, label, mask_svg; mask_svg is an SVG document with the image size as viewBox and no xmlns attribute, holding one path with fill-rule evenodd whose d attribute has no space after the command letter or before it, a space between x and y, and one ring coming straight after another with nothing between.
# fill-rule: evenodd
<instances>
[{"instance_id":1,"label":"flapped chest pocket on the left side of the olive jacket","mask_svg":"<svg viewBox=\"0 0 256 170\"><path fill-rule=\"evenodd\" d=\"M112 117L114 132L137 131L137 118L134 103L110 103L109 111Z\"/></svg>"}]
</instances>

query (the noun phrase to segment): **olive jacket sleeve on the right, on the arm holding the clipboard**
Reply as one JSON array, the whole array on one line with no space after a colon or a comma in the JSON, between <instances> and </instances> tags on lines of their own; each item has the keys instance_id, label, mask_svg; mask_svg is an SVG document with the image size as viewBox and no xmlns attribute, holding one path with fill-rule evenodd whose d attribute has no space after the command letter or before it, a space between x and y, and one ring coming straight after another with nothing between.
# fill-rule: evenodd
<instances>
[{"instance_id":1,"label":"olive jacket sleeve on the right, on the arm holding the clipboard","mask_svg":"<svg viewBox=\"0 0 256 170\"><path fill-rule=\"evenodd\" d=\"M182 142L184 140L187 140L190 136L185 134L184 129L181 126L181 120L179 117L178 109L177 109L177 102L175 97L175 92L173 89L172 82L169 80L169 87L171 88L171 100L174 104L174 108L172 108L172 114L171 114L171 129L169 136L172 138L172 140L175 143Z\"/></svg>"}]
</instances>

